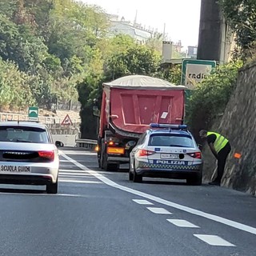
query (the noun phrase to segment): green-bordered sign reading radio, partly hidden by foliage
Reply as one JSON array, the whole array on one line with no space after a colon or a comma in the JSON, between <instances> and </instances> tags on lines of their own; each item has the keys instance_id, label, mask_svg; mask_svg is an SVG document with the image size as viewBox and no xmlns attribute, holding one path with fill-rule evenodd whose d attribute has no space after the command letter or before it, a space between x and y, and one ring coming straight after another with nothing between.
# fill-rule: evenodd
<instances>
[{"instance_id":1,"label":"green-bordered sign reading radio, partly hidden by foliage","mask_svg":"<svg viewBox=\"0 0 256 256\"><path fill-rule=\"evenodd\" d=\"M215 66L215 61L184 59L182 61L182 85L194 89L194 84L206 78Z\"/></svg>"}]
</instances>

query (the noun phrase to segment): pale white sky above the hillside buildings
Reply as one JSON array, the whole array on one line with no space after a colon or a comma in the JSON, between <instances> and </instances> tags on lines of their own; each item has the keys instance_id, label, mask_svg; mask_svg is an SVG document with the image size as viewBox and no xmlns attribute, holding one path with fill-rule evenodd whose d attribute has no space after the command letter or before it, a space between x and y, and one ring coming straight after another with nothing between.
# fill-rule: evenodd
<instances>
[{"instance_id":1,"label":"pale white sky above the hillside buildings","mask_svg":"<svg viewBox=\"0 0 256 256\"><path fill-rule=\"evenodd\" d=\"M147 29L164 31L172 42L182 41L183 46L198 45L201 0L80 0L101 6L108 14L118 14Z\"/></svg>"}]
</instances>

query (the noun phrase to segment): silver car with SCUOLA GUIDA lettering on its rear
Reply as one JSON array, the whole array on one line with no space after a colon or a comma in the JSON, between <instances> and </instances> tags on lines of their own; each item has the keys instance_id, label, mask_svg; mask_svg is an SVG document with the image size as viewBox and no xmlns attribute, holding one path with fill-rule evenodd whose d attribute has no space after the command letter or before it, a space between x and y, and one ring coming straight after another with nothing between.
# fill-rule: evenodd
<instances>
[{"instance_id":1,"label":"silver car with SCUOLA GUIDA lettering on its rear","mask_svg":"<svg viewBox=\"0 0 256 256\"><path fill-rule=\"evenodd\" d=\"M38 122L0 122L0 183L46 185L58 193L58 146Z\"/></svg>"}]
</instances>

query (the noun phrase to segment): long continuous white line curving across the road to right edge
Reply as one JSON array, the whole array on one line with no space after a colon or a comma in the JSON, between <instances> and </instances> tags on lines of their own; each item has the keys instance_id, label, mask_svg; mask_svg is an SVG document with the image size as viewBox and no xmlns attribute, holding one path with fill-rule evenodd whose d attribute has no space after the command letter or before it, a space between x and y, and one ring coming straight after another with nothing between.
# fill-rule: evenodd
<instances>
[{"instance_id":1,"label":"long continuous white line curving across the road to right edge","mask_svg":"<svg viewBox=\"0 0 256 256\"><path fill-rule=\"evenodd\" d=\"M94 175L94 177L98 178L99 180L104 182L106 185L117 188L118 190L123 190L123 191L129 192L130 194L136 194L137 196L140 196L142 198L146 198L146 199L149 199L151 201L158 202L158 203L161 203L161 204L166 205L166 206L173 207L173 208L178 209L178 210L183 210L183 211L185 211L189 214L198 215L198 216L203 217L203 218L208 218L208 219L210 219L214 222L220 222L222 224L225 224L226 226L232 226L232 227L234 227L235 229L238 229L238 230L243 230L243 231L246 231L246 232L251 233L251 234L256 234L256 228L254 228L252 226L247 226L247 225L239 223L239 222L234 222L234 221L231 221L230 219L222 218L222 217L219 217L219 216L214 215L214 214L207 214L207 213L203 212L202 210L196 210L196 209L193 209L193 208L190 208L190 207L187 207L187 206L182 206L182 205L179 205L178 203L170 202L170 201L167 201L165 199L158 198L158 197L156 197L154 195L151 195L151 194L146 194L146 193L138 191L138 190L130 189L129 187L126 187L126 186L118 185L117 183L112 182L109 178L106 178L106 177L102 176L101 174L98 174L97 171L90 170L86 166L83 166L79 162L76 162L74 159L68 157L66 154L62 154L62 157L66 158L67 160L70 160L70 162L73 162L74 165L78 166L82 170L85 170L87 173L89 173L91 175Z\"/></svg>"}]
</instances>

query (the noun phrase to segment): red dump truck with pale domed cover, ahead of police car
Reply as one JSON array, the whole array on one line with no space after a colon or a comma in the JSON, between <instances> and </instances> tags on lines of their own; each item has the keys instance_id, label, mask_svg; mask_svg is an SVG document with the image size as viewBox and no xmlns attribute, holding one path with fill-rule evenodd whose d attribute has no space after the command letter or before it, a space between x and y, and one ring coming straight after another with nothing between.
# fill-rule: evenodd
<instances>
[{"instance_id":1,"label":"red dump truck with pale domed cover, ahead of police car","mask_svg":"<svg viewBox=\"0 0 256 256\"><path fill-rule=\"evenodd\" d=\"M128 75L104 82L98 125L98 166L118 170L150 123L183 124L186 86Z\"/></svg>"}]
</instances>

